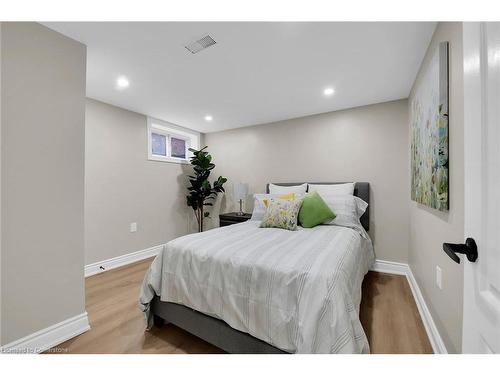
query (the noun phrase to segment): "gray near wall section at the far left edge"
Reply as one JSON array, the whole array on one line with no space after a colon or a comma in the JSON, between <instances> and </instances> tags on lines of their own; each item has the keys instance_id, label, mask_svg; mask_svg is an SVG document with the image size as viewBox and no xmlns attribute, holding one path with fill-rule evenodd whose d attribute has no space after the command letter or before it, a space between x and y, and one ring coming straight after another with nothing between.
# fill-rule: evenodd
<instances>
[{"instance_id":1,"label":"gray near wall section at the far left edge","mask_svg":"<svg viewBox=\"0 0 500 375\"><path fill-rule=\"evenodd\" d=\"M85 311L86 47L2 24L2 344Z\"/></svg>"}]
</instances>

